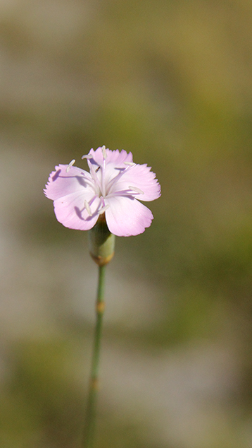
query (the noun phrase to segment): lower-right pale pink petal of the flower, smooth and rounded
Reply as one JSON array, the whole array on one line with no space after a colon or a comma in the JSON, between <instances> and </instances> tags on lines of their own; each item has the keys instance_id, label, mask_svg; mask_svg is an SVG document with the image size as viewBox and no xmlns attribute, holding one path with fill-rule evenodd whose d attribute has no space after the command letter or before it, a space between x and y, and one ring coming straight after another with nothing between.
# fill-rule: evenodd
<instances>
[{"instance_id":1,"label":"lower-right pale pink petal of the flower, smooth and rounded","mask_svg":"<svg viewBox=\"0 0 252 448\"><path fill-rule=\"evenodd\" d=\"M149 208L130 196L113 196L105 204L109 204L105 212L108 229L118 237L139 235L153 220Z\"/></svg>"}]
</instances>

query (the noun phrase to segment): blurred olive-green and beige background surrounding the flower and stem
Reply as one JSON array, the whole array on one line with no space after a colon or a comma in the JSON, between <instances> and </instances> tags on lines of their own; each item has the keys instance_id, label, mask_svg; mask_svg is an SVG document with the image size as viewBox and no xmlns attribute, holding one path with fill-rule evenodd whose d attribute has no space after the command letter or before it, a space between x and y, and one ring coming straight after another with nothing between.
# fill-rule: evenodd
<instances>
[{"instance_id":1,"label":"blurred olive-green and beige background surrounding the flower and stem","mask_svg":"<svg viewBox=\"0 0 252 448\"><path fill-rule=\"evenodd\" d=\"M251 448L251 0L1 0L0 98L1 447L80 447L97 271L42 189L104 144L162 196L108 266L96 447Z\"/></svg>"}]
</instances>

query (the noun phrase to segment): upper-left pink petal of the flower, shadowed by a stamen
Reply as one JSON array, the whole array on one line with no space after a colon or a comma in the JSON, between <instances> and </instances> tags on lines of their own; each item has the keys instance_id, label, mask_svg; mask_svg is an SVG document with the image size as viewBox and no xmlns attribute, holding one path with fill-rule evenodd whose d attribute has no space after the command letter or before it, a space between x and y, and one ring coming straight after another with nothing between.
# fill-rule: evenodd
<instances>
[{"instance_id":1,"label":"upper-left pink petal of the flower, shadowed by a stamen","mask_svg":"<svg viewBox=\"0 0 252 448\"><path fill-rule=\"evenodd\" d=\"M56 171L51 172L44 189L46 197L54 200L75 191L81 192L84 190L94 194L93 180L89 172L73 166L67 172L67 167L68 165L58 165L55 167Z\"/></svg>"}]
</instances>

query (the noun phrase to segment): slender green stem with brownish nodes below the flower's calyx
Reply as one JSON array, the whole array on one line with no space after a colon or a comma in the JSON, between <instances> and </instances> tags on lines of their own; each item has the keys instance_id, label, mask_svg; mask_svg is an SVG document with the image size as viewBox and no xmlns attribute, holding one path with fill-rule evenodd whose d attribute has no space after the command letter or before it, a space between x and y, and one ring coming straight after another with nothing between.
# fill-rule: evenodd
<instances>
[{"instance_id":1,"label":"slender green stem with brownish nodes below the flower's calyx","mask_svg":"<svg viewBox=\"0 0 252 448\"><path fill-rule=\"evenodd\" d=\"M94 348L92 355L92 369L87 399L87 415L84 426L83 448L92 448L94 444L94 426L96 418L96 397L98 390L99 355L101 349L101 330L104 311L104 279L105 265L99 266L99 281L96 297L96 328L94 333Z\"/></svg>"}]
</instances>

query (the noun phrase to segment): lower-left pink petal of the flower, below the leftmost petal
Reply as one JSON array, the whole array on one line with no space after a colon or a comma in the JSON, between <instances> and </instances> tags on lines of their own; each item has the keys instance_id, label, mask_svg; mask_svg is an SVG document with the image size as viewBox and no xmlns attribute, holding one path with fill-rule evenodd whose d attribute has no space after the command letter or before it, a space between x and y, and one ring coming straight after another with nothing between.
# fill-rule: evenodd
<instances>
[{"instance_id":1,"label":"lower-left pink petal of the flower, below the leftmost petal","mask_svg":"<svg viewBox=\"0 0 252 448\"><path fill-rule=\"evenodd\" d=\"M99 217L97 210L100 204L101 199L94 196L94 192L85 190L75 191L53 202L58 222L76 230L89 230L94 227Z\"/></svg>"}]
</instances>

